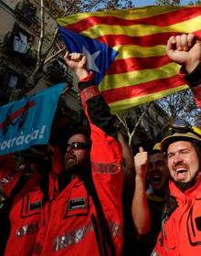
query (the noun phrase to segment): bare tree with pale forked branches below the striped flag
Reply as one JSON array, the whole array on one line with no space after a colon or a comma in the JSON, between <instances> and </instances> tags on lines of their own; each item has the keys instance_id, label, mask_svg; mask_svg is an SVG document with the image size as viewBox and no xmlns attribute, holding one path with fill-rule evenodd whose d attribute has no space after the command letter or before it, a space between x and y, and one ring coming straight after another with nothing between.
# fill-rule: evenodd
<instances>
[{"instance_id":1,"label":"bare tree with pale forked branches below the striped flag","mask_svg":"<svg viewBox=\"0 0 201 256\"><path fill-rule=\"evenodd\" d=\"M161 140L161 132L171 123L169 116L155 101L118 112L117 118L122 133L127 135L132 148L143 144L147 149Z\"/></svg>"}]
</instances>

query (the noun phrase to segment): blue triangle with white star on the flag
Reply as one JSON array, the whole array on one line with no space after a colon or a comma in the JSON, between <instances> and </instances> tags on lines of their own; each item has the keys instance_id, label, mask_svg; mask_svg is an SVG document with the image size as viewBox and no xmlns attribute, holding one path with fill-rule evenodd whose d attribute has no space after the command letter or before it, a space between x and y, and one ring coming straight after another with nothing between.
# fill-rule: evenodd
<instances>
[{"instance_id":1,"label":"blue triangle with white star on the flag","mask_svg":"<svg viewBox=\"0 0 201 256\"><path fill-rule=\"evenodd\" d=\"M94 71L95 83L99 85L118 51L96 39L79 35L66 27L58 27L58 32L63 37L69 53L79 52L88 57L88 69Z\"/></svg>"}]
</instances>

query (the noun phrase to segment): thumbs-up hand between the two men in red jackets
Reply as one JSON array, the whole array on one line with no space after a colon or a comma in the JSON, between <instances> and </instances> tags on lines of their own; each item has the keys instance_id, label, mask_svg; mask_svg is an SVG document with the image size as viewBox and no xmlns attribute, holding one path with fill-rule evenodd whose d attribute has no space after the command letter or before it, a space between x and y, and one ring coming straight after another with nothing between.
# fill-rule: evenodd
<instances>
[{"instance_id":1,"label":"thumbs-up hand between the two men in red jackets","mask_svg":"<svg viewBox=\"0 0 201 256\"><path fill-rule=\"evenodd\" d=\"M143 147L139 148L139 153L134 156L134 166L136 176L143 176L145 178L148 168L148 153L143 151Z\"/></svg>"}]
</instances>

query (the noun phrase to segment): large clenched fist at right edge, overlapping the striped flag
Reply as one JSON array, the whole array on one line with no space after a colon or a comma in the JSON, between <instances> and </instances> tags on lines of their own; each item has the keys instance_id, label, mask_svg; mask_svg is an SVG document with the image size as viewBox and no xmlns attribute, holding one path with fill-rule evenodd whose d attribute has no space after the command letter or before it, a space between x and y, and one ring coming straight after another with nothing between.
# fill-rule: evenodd
<instances>
[{"instance_id":1,"label":"large clenched fist at right edge, overlapping the striped flag","mask_svg":"<svg viewBox=\"0 0 201 256\"><path fill-rule=\"evenodd\" d=\"M201 60L201 44L194 34L170 37L166 52L175 63L184 66L187 73L193 71Z\"/></svg>"}]
</instances>

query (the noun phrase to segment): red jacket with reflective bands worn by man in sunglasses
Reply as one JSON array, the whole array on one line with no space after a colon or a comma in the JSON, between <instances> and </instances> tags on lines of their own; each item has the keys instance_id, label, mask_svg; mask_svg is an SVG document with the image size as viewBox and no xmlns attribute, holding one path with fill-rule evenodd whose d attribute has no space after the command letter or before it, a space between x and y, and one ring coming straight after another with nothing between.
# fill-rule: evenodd
<instances>
[{"instance_id":1,"label":"red jacket with reflective bands worn by man in sunglasses","mask_svg":"<svg viewBox=\"0 0 201 256\"><path fill-rule=\"evenodd\" d=\"M90 91L87 88L81 92L81 97L90 119L93 183L111 230L116 255L121 255L122 147L113 136L113 118L97 88L92 86ZM102 255L101 243L96 208L83 181L77 177L46 204L34 255Z\"/></svg>"}]
</instances>

